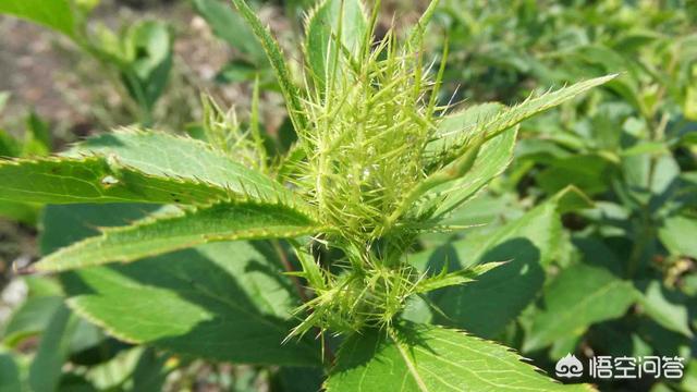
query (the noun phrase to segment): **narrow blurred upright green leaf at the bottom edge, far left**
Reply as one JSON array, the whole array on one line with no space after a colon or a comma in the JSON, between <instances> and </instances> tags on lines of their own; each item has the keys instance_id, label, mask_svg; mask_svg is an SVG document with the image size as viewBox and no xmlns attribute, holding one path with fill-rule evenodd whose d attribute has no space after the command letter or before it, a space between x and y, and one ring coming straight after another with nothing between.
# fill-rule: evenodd
<instances>
[{"instance_id":1,"label":"narrow blurred upright green leaf at the bottom edge, far left","mask_svg":"<svg viewBox=\"0 0 697 392\"><path fill-rule=\"evenodd\" d=\"M64 305L61 305L53 313L29 366L32 391L53 392L57 390L76 321L77 318Z\"/></svg>"}]
</instances>

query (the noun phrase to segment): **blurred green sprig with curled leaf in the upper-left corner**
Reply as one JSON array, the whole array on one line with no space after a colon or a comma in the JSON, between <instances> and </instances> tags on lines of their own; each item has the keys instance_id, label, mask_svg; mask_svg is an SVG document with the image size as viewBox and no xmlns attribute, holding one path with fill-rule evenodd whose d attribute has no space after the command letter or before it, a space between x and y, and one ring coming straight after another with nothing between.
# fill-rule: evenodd
<instances>
[{"instance_id":1,"label":"blurred green sprig with curled leaf in the upper-left corner","mask_svg":"<svg viewBox=\"0 0 697 392\"><path fill-rule=\"evenodd\" d=\"M89 32L89 13L99 0L7 0L0 13L51 28L70 40L101 66L120 94L133 119L144 126L155 122L155 105L163 93L172 68L172 36L160 22L127 26L117 35L106 26ZM93 38L96 37L96 38Z\"/></svg>"}]
</instances>

